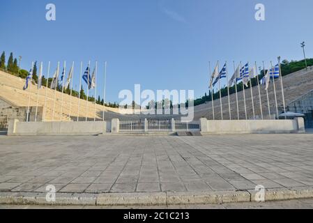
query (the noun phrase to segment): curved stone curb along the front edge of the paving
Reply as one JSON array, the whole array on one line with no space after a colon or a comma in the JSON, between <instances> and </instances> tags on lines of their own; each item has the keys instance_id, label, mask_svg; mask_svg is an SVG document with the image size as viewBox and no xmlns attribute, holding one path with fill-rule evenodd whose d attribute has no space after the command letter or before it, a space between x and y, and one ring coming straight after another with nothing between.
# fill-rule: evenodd
<instances>
[{"instance_id":1,"label":"curved stone curb along the front edge of the paving","mask_svg":"<svg viewBox=\"0 0 313 223\"><path fill-rule=\"evenodd\" d=\"M0 204L14 205L79 205L79 206L162 206L190 204L240 203L256 200L255 191L225 192L145 192L116 194L56 194L55 202L48 202L45 193L0 193ZM266 201L313 198L312 187L266 190Z\"/></svg>"}]
</instances>

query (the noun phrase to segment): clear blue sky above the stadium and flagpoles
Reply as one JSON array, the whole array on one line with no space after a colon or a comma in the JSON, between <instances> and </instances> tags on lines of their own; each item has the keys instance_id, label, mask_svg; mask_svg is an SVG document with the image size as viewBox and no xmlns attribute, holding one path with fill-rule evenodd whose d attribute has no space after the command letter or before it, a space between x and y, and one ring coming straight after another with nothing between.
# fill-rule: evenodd
<instances>
[{"instance_id":1,"label":"clear blue sky above the stadium and flagpoles","mask_svg":"<svg viewBox=\"0 0 313 223\"><path fill-rule=\"evenodd\" d=\"M45 20L47 3L56 5L54 22ZM264 22L254 20L257 3L266 7ZM111 102L134 84L199 97L208 92L208 61L228 61L232 75L232 61L302 59L303 40L313 57L312 8L312 0L4 0L0 51L23 56L26 69L31 61L51 61L52 70L75 61L75 75L80 61L98 61L100 95L107 61Z\"/></svg>"}]
</instances>

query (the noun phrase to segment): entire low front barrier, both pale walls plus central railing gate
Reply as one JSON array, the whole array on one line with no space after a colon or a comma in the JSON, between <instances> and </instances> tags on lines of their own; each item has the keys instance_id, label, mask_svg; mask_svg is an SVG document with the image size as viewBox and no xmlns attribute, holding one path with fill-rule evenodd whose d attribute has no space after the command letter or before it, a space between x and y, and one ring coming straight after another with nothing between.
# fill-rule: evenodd
<instances>
[{"instance_id":1,"label":"entire low front barrier, both pale walls plus central railing gate","mask_svg":"<svg viewBox=\"0 0 313 223\"><path fill-rule=\"evenodd\" d=\"M121 128L121 129L120 129ZM293 120L200 119L200 124L178 121L87 121L87 122L20 122L10 120L8 135L92 135L106 132L180 132L201 130L202 134L305 133L303 118Z\"/></svg>"}]
</instances>

